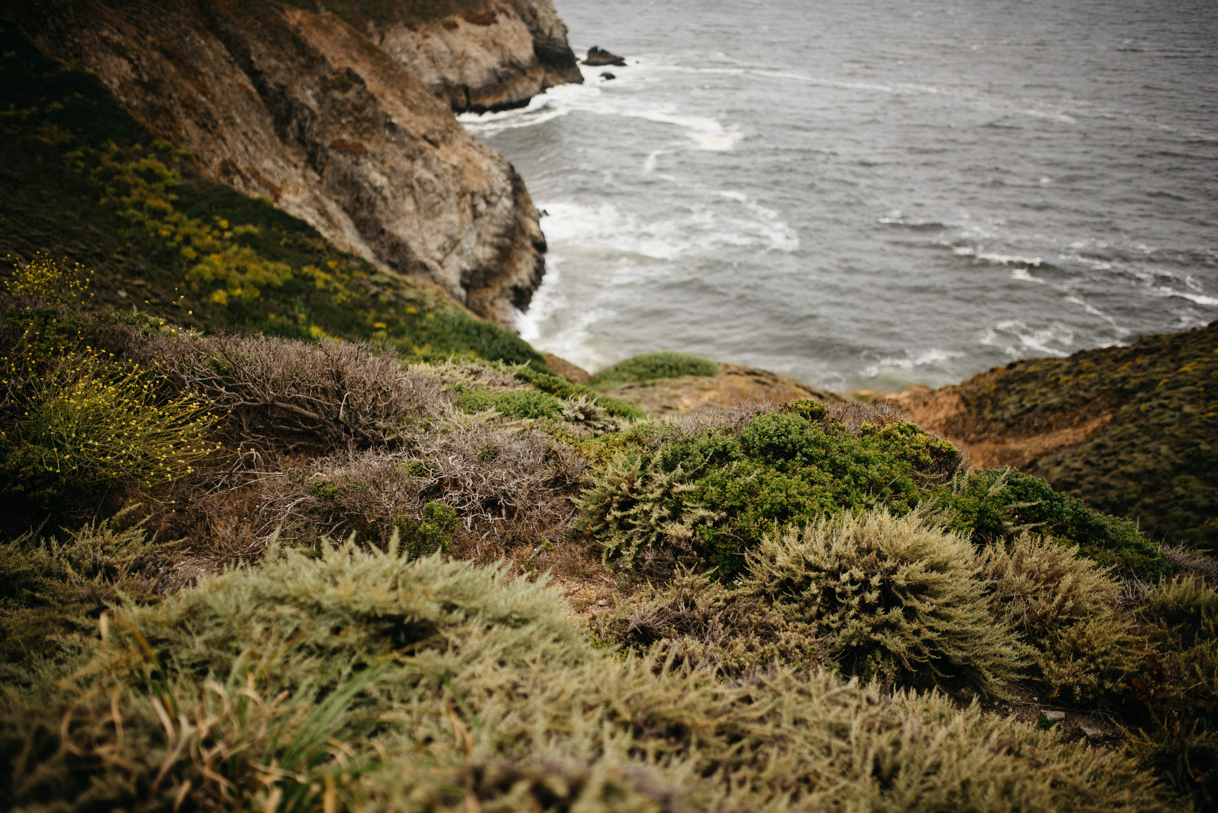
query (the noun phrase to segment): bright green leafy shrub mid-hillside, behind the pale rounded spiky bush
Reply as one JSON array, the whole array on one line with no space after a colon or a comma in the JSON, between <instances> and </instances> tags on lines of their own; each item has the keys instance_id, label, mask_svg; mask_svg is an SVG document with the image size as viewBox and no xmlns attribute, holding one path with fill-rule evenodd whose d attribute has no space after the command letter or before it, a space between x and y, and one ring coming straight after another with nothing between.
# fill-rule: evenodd
<instances>
[{"instance_id":1,"label":"bright green leafy shrub mid-hillside, behind the pale rounded spiky bush","mask_svg":"<svg viewBox=\"0 0 1218 813\"><path fill-rule=\"evenodd\" d=\"M798 410L758 414L738 432L655 437L664 442L627 445L593 472L577 501L580 526L622 567L639 550L667 546L723 578L775 522L805 525L878 505L906 512L922 499L922 483L952 472L960 459L912 424L862 424L853 434Z\"/></svg>"}]
</instances>

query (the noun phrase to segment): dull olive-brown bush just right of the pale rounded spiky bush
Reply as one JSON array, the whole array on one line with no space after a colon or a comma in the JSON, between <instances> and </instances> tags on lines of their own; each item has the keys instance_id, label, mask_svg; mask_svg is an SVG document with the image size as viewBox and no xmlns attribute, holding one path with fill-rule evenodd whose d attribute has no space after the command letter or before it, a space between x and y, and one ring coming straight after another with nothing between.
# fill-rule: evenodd
<instances>
[{"instance_id":1,"label":"dull olive-brown bush just right of the pale rounded spiky bush","mask_svg":"<svg viewBox=\"0 0 1218 813\"><path fill-rule=\"evenodd\" d=\"M1119 611L1121 585L1077 546L1022 534L982 554L991 609L1032 649L1035 679L1050 697L1072 702L1122 691L1142 667L1142 651Z\"/></svg>"}]
</instances>

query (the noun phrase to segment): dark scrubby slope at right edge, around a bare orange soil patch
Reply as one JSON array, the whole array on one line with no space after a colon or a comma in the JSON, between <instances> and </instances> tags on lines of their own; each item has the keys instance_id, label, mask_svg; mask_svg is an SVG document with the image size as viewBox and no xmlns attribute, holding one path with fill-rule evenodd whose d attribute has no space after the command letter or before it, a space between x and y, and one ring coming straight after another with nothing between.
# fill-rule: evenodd
<instances>
[{"instance_id":1,"label":"dark scrubby slope at right edge, around a bare orange soil patch","mask_svg":"<svg viewBox=\"0 0 1218 813\"><path fill-rule=\"evenodd\" d=\"M1218 548L1218 323L1129 347L1032 359L962 385L960 437L1051 432L1111 414L1024 471L1169 542Z\"/></svg>"}]
</instances>

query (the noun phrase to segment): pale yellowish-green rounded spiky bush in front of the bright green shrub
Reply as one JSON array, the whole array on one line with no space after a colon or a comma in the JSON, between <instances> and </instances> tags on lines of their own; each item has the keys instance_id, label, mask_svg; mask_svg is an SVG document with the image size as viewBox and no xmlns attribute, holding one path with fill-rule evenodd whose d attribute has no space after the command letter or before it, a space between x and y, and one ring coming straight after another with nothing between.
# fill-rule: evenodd
<instances>
[{"instance_id":1,"label":"pale yellowish-green rounded spiky bush in front of the bright green shrub","mask_svg":"<svg viewBox=\"0 0 1218 813\"><path fill-rule=\"evenodd\" d=\"M967 537L920 512L822 518L767 534L744 590L815 623L848 674L1001 694L1027 663L977 578Z\"/></svg>"}]
</instances>

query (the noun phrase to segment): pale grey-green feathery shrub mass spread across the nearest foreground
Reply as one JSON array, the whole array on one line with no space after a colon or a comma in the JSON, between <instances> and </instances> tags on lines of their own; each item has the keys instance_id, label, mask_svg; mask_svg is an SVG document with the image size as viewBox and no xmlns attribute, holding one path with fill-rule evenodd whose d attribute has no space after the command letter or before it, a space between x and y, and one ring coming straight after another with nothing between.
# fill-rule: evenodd
<instances>
[{"instance_id":1,"label":"pale grey-green feathery shrub mass spread across the nearest foreground","mask_svg":"<svg viewBox=\"0 0 1218 813\"><path fill-rule=\"evenodd\" d=\"M938 694L715 680L597 652L565 615L495 568L272 553L119 610L54 700L7 691L0 794L30 813L1166 809L1124 758Z\"/></svg>"}]
</instances>

